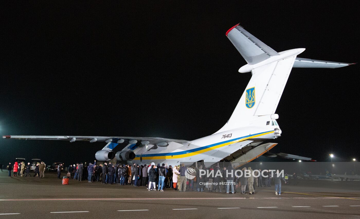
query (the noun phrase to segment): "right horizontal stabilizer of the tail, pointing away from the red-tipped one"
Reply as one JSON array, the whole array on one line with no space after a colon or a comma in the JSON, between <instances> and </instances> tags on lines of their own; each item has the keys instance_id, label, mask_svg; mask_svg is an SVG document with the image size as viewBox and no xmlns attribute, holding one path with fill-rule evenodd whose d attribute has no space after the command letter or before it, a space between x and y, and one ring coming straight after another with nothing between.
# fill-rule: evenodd
<instances>
[{"instance_id":1,"label":"right horizontal stabilizer of the tail, pointing away from the red-tipped one","mask_svg":"<svg viewBox=\"0 0 360 219\"><path fill-rule=\"evenodd\" d=\"M341 68L356 63L342 63L315 59L296 58L293 68Z\"/></svg>"}]
</instances>

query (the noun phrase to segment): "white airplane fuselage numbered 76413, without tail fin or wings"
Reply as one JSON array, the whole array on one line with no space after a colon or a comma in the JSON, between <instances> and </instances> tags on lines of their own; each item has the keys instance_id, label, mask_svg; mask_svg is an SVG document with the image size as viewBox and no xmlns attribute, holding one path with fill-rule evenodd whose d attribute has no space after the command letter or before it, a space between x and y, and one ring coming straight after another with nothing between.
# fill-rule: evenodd
<instances>
[{"instance_id":1,"label":"white airplane fuselage numbered 76413, without tail fin or wings","mask_svg":"<svg viewBox=\"0 0 360 219\"><path fill-rule=\"evenodd\" d=\"M189 166L199 160L216 163L255 139L265 141L280 136L280 134L274 133L274 130L279 129L279 126L272 126L271 122L269 125L265 125L266 121L263 124L264 126L241 127L215 133L183 144L171 142L166 147L156 145L138 147L132 150L136 154L135 159L127 161L127 163L129 165L133 163L143 165L154 162L172 166L180 163Z\"/></svg>"}]
</instances>

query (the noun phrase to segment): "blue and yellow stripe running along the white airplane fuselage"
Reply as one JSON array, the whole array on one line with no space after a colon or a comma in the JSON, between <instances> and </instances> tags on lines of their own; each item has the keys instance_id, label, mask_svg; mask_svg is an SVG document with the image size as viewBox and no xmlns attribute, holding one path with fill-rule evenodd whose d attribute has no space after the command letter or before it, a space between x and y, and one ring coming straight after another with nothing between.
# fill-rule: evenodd
<instances>
[{"instance_id":1,"label":"blue and yellow stripe running along the white airplane fuselage","mask_svg":"<svg viewBox=\"0 0 360 219\"><path fill-rule=\"evenodd\" d=\"M189 157L189 156L202 154L204 152L211 151L211 150L214 150L214 149L217 149L217 148L220 148L220 147L231 145L231 144L234 144L234 143L237 143L237 142L240 142L240 141L245 141L245 140L248 140L248 139L251 139L251 138L257 138L257 137L260 137L260 136L264 136L266 134L270 134L270 133L273 133L273 132L274 132L274 130L267 131L267 132L261 132L261 133L257 133L257 134L250 134L248 136L234 138L234 139L231 139L231 140L222 141L222 142L218 142L218 143L214 143L214 144L211 144L211 145L198 147L198 148L191 149L191 150L186 150L186 151L159 153L159 154L143 154L143 155L141 155L141 159L142 160L157 160L157 159L167 160L167 159L186 158L186 157ZM140 160L140 155L136 155L134 160Z\"/></svg>"}]
</instances>

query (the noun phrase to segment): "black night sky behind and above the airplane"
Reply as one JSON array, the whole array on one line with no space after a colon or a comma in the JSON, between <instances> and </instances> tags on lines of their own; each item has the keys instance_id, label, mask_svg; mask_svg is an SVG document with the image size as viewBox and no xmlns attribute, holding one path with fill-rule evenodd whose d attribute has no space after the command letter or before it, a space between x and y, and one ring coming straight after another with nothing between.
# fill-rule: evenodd
<instances>
[{"instance_id":1,"label":"black night sky behind and above the airplane","mask_svg":"<svg viewBox=\"0 0 360 219\"><path fill-rule=\"evenodd\" d=\"M360 1L224 3L2 1L0 135L212 134L251 77L238 73L246 62L225 36L239 22L278 52L360 60ZM271 152L360 159L358 101L359 65L293 69ZM0 139L0 162L89 162L104 144Z\"/></svg>"}]
</instances>

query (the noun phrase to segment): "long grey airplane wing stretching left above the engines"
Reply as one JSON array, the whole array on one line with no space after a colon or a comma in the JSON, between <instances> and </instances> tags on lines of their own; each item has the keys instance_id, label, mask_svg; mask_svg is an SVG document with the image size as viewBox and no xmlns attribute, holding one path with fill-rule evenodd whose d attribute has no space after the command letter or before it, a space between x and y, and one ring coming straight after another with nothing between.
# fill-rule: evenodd
<instances>
[{"instance_id":1,"label":"long grey airplane wing stretching left above the engines","mask_svg":"<svg viewBox=\"0 0 360 219\"><path fill-rule=\"evenodd\" d=\"M166 146L168 142L183 143L186 140L169 139L169 138L157 138L157 137L114 137L114 136L33 136L33 135L5 135L3 138L11 139L25 139L25 140L66 140L70 142L74 141L103 141L106 143L123 143L129 144L141 143L142 145L158 145Z\"/></svg>"}]
</instances>

